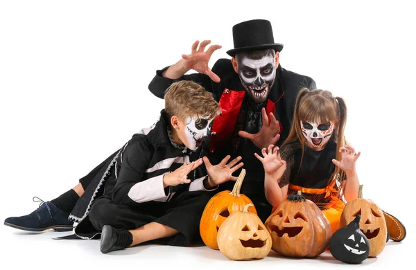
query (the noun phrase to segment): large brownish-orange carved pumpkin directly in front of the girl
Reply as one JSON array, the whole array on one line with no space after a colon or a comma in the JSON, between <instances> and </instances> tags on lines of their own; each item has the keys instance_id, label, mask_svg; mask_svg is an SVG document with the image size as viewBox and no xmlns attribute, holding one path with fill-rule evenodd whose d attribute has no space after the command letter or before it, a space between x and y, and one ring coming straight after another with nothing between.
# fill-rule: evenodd
<instances>
[{"instance_id":1,"label":"large brownish-orange carved pumpkin directly in front of the girl","mask_svg":"<svg viewBox=\"0 0 416 270\"><path fill-rule=\"evenodd\" d=\"M322 211L299 191L266 220L272 249L288 257L315 257L327 249L332 229Z\"/></svg>"}]
</instances>

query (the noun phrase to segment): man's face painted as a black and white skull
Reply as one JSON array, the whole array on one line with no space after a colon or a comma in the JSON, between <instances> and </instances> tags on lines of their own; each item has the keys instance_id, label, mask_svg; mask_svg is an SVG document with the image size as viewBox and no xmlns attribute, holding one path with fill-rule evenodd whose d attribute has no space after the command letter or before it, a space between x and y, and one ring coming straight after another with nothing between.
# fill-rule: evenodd
<instances>
[{"instance_id":1,"label":"man's face painted as a black and white skull","mask_svg":"<svg viewBox=\"0 0 416 270\"><path fill-rule=\"evenodd\" d=\"M270 89L275 83L275 57L268 53L259 60L247 55L239 57L239 77L245 91L255 102L266 101Z\"/></svg>"}]
</instances>

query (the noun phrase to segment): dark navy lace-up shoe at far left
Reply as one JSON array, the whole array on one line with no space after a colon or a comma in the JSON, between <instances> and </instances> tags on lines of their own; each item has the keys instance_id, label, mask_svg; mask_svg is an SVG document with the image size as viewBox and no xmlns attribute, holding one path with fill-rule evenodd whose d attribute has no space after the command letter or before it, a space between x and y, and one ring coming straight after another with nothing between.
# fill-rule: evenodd
<instances>
[{"instance_id":1,"label":"dark navy lace-up shoe at far left","mask_svg":"<svg viewBox=\"0 0 416 270\"><path fill-rule=\"evenodd\" d=\"M35 201L33 197L33 201ZM39 198L37 198L39 199ZM12 228L18 228L24 231L46 231L53 229L55 231L72 231L73 222L68 220L68 213L64 213L50 201L42 201L39 208L29 215L21 217L8 217L4 225Z\"/></svg>"}]
</instances>

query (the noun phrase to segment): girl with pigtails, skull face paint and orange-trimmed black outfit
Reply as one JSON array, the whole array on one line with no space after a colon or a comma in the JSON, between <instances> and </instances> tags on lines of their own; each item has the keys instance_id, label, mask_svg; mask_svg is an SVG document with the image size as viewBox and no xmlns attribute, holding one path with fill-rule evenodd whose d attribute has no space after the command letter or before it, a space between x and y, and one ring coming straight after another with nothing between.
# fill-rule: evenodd
<instances>
[{"instance_id":1,"label":"girl with pigtails, skull face paint and orange-trimmed black outfit","mask_svg":"<svg viewBox=\"0 0 416 270\"><path fill-rule=\"evenodd\" d=\"M345 201L358 197L359 186L355 164L361 153L345 141L346 120L343 98L318 89L298 93L291 132L281 149L270 145L263 157L255 154L263 163L266 198L273 207L300 190L320 207L333 231L339 228Z\"/></svg>"}]
</instances>

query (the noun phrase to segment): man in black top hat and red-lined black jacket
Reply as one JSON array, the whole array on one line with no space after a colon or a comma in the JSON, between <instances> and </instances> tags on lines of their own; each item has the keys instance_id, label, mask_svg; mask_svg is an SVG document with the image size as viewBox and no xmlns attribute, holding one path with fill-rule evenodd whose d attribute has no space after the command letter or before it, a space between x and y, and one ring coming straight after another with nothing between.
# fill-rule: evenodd
<instances>
[{"instance_id":1,"label":"man in black top hat and red-lined black jacket","mask_svg":"<svg viewBox=\"0 0 416 270\"><path fill-rule=\"evenodd\" d=\"M295 100L303 87L315 89L312 78L288 71L279 64L283 44L275 43L270 21L243 21L232 28L232 57L218 60L212 70L209 59L221 46L209 41L192 46L190 55L156 72L149 89L163 98L164 91L177 80L193 80L211 91L223 111L211 129L205 154L219 163L224 156L241 156L246 170L241 192L252 199L261 220L266 221L272 207L264 195L264 170L254 153L270 144L281 145L291 128ZM199 73L185 75L189 70ZM218 191L232 190L233 182L223 183Z\"/></svg>"}]
</instances>

